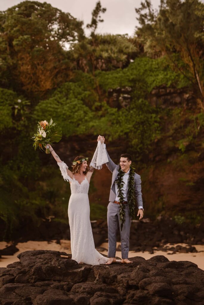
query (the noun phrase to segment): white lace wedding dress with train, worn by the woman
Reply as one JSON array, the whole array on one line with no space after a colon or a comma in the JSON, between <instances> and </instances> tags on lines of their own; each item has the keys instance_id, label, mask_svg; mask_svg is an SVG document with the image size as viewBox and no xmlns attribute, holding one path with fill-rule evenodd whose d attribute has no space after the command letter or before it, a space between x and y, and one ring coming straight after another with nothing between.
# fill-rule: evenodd
<instances>
[{"instance_id":1,"label":"white lace wedding dress with train, worn by the woman","mask_svg":"<svg viewBox=\"0 0 204 305\"><path fill-rule=\"evenodd\" d=\"M86 179L80 184L71 179L67 174L67 165L64 162L57 163L62 176L70 182L71 196L68 206L68 217L71 232L71 254L72 259L78 263L99 265L107 263L107 257L101 255L96 249L93 241L93 233L90 222L89 206L89 182Z\"/></svg>"}]
</instances>

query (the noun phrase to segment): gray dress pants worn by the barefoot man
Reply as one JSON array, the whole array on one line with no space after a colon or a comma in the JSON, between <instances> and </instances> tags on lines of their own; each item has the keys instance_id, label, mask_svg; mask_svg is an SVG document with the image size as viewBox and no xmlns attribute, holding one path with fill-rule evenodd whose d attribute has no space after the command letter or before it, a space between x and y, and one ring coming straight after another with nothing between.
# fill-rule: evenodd
<instances>
[{"instance_id":1,"label":"gray dress pants worn by the barefoot man","mask_svg":"<svg viewBox=\"0 0 204 305\"><path fill-rule=\"evenodd\" d=\"M121 239L121 253L122 258L128 258L129 252L129 231L131 225L131 217L129 215L128 205L125 206L125 223L121 231L120 228L120 205L117 203L109 202L107 211L108 222L108 257L115 257L116 253L116 237L118 228L120 230Z\"/></svg>"}]
</instances>

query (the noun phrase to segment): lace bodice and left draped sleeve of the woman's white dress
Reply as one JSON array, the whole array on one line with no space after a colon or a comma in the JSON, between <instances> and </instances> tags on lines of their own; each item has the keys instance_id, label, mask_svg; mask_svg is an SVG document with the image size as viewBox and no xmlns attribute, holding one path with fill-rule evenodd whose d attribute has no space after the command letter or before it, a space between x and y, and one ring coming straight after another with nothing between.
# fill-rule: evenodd
<instances>
[{"instance_id":1,"label":"lace bodice and left draped sleeve of the woman's white dress","mask_svg":"<svg viewBox=\"0 0 204 305\"><path fill-rule=\"evenodd\" d=\"M57 162L57 164L60 167L62 177L64 180L70 182L70 187L71 187L71 194L88 194L89 192L89 181L85 179L81 182L81 184L74 179L70 178L69 175L67 174L67 164L64 162Z\"/></svg>"}]
</instances>

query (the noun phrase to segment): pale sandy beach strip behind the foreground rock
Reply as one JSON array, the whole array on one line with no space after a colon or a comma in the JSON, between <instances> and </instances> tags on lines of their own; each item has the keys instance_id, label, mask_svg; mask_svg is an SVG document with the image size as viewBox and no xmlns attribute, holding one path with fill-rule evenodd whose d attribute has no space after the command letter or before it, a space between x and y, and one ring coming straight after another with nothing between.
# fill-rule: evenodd
<instances>
[{"instance_id":1,"label":"pale sandy beach strip behind the foreground rock","mask_svg":"<svg viewBox=\"0 0 204 305\"><path fill-rule=\"evenodd\" d=\"M0 242L0 249L4 249L6 246L8 246L9 243L6 242ZM119 242L117 242L117 247L120 245ZM178 244L181 246L188 246L186 244ZM107 249L107 242L103 243L100 248ZM167 244L167 246L170 246ZM172 245L171 245L172 246ZM177 246L175 244L174 246ZM71 243L70 240L60 240L60 244L56 244L56 241L51 242L38 242L38 241L28 241L28 242L22 242L18 243L16 247L19 249L18 252L16 252L14 255L9 256L2 256L0 258L0 267L6 267L8 264L12 264L13 262L18 261L17 255L21 252L28 251L28 250L54 250L54 251L61 251L66 253L71 253ZM129 257L135 257L140 256L144 257L146 260L149 258L155 256L155 255L163 255L168 258L168 260L188 260L198 265L198 267L202 270L204 270L204 246L203 245L194 245L198 253L174 253L171 254L172 251L155 251L154 254L150 254L149 252L134 252L129 251ZM200 252L202 251L202 252ZM107 250L100 251L103 254L107 255ZM169 253L169 254L168 254ZM121 252L117 251L116 256L121 257Z\"/></svg>"}]
</instances>

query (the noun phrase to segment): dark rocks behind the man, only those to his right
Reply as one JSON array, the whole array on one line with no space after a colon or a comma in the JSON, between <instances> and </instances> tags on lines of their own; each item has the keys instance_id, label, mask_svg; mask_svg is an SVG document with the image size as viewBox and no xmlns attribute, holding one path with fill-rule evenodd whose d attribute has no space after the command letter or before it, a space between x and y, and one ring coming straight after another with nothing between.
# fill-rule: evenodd
<instances>
[{"instance_id":1,"label":"dark rocks behind the man, only those to his right","mask_svg":"<svg viewBox=\"0 0 204 305\"><path fill-rule=\"evenodd\" d=\"M171 218L161 217L156 221L135 221L130 228L130 250L133 251L173 251L180 253L195 253L195 244L203 244L202 224L177 224ZM120 237L118 236L118 241ZM188 247L167 247L166 243L186 243Z\"/></svg>"}]
</instances>

